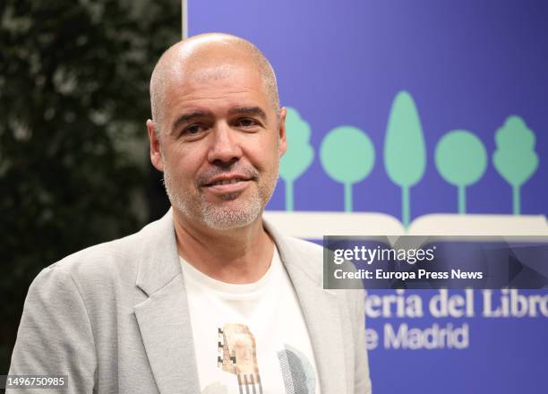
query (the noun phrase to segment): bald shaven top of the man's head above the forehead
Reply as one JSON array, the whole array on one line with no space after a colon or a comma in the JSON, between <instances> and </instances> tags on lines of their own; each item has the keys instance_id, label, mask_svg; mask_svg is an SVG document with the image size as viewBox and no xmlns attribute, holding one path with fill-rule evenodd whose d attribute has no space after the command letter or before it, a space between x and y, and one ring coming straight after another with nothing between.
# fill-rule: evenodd
<instances>
[{"instance_id":1,"label":"bald shaven top of the man's head above the forehead","mask_svg":"<svg viewBox=\"0 0 548 394\"><path fill-rule=\"evenodd\" d=\"M276 75L261 51L246 39L229 34L201 34L169 47L154 67L150 78L150 107L156 131L161 124L169 85L191 72L194 79L203 81L223 78L231 67L243 64L251 65L259 73L265 93L278 115ZM215 73L210 73L213 68Z\"/></svg>"}]
</instances>

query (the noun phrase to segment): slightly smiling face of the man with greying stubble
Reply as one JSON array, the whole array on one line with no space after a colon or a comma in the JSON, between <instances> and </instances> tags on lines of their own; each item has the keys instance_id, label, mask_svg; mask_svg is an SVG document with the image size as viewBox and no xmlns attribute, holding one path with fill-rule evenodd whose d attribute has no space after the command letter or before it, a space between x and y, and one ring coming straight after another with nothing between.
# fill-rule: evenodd
<instances>
[{"instance_id":1,"label":"slightly smiling face of the man with greying stubble","mask_svg":"<svg viewBox=\"0 0 548 394\"><path fill-rule=\"evenodd\" d=\"M153 164L184 218L218 230L244 227L260 216L278 179L285 109L278 119L251 64L194 69L167 87L161 162L153 155Z\"/></svg>"}]
</instances>

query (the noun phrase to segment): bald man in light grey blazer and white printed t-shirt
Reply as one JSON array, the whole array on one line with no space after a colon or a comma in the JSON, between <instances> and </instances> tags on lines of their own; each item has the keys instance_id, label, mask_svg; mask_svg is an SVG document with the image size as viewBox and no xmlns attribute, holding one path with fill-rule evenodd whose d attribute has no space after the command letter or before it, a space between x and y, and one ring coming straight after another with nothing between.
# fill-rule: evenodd
<instances>
[{"instance_id":1,"label":"bald man in light grey blazer and white printed t-shirt","mask_svg":"<svg viewBox=\"0 0 548 394\"><path fill-rule=\"evenodd\" d=\"M363 294L323 290L321 247L262 219L287 147L268 60L234 36L185 39L150 102L171 210L40 272L10 374L74 393L371 392Z\"/></svg>"}]
</instances>

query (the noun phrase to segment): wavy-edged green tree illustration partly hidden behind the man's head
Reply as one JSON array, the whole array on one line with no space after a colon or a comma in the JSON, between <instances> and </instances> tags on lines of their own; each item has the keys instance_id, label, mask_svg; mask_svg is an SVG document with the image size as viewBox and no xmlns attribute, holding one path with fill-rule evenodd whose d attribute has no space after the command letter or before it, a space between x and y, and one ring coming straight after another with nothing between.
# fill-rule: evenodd
<instances>
[{"instance_id":1,"label":"wavy-edged green tree illustration partly hidden behind the man's head","mask_svg":"<svg viewBox=\"0 0 548 394\"><path fill-rule=\"evenodd\" d=\"M286 184L286 210L293 210L293 184L312 164L314 150L310 144L310 125L292 107L287 107L286 135L287 150L279 162L279 176Z\"/></svg>"}]
</instances>

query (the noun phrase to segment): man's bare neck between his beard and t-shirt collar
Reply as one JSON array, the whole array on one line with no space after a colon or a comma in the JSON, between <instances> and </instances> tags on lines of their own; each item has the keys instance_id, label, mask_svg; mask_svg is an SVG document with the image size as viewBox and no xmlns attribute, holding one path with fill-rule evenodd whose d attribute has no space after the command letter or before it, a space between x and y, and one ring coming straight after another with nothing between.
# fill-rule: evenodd
<instances>
[{"instance_id":1,"label":"man's bare neck between his beard and t-shirt collar","mask_svg":"<svg viewBox=\"0 0 548 394\"><path fill-rule=\"evenodd\" d=\"M179 254L204 274L223 282L259 280L269 269L274 242L259 215L246 227L215 230L193 223L173 209Z\"/></svg>"}]
</instances>

